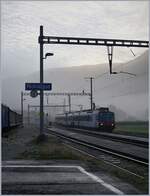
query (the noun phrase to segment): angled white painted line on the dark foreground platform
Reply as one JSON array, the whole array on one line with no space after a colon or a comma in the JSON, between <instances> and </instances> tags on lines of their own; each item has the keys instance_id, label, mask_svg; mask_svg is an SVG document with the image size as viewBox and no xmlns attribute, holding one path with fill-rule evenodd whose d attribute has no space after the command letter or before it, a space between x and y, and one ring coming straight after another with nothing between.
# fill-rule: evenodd
<instances>
[{"instance_id":1,"label":"angled white painted line on the dark foreground platform","mask_svg":"<svg viewBox=\"0 0 150 196\"><path fill-rule=\"evenodd\" d=\"M70 166L70 165L4 165L2 166L3 168L33 168L33 167L37 167L37 168L77 168L81 173L86 174L87 176L89 176L90 178L92 178L95 182L100 183L102 186L106 187L107 189L111 190L112 192L118 194L118 195L124 195L124 193L122 191L120 191L119 189L115 188L114 186L112 186L111 184L108 184L106 182L104 182L101 178L97 177L96 175L87 172L83 167L81 166Z\"/></svg>"}]
</instances>

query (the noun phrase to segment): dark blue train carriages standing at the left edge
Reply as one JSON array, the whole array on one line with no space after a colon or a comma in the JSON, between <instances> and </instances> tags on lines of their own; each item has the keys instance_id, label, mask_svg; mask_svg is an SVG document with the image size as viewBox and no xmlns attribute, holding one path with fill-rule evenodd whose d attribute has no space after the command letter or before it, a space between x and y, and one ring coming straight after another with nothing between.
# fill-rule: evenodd
<instances>
[{"instance_id":1,"label":"dark blue train carriages standing at the left edge","mask_svg":"<svg viewBox=\"0 0 150 196\"><path fill-rule=\"evenodd\" d=\"M1 128L2 134L13 127L22 125L22 115L1 104Z\"/></svg>"}]
</instances>

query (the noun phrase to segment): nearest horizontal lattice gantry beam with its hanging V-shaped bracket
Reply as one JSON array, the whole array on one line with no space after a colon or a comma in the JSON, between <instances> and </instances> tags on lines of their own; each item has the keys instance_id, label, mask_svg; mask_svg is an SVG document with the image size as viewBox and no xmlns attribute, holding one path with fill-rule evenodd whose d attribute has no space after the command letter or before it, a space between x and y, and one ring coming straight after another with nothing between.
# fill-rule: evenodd
<instances>
[{"instance_id":1,"label":"nearest horizontal lattice gantry beam with its hanging V-shaped bracket","mask_svg":"<svg viewBox=\"0 0 150 196\"><path fill-rule=\"evenodd\" d=\"M101 38L81 38L81 37L59 37L59 36L39 36L39 43L42 44L71 44L107 46L110 74L112 71L113 47L149 47L149 41L144 40L123 40L123 39L101 39Z\"/></svg>"}]
</instances>

